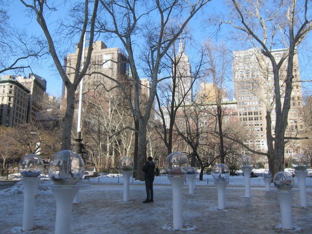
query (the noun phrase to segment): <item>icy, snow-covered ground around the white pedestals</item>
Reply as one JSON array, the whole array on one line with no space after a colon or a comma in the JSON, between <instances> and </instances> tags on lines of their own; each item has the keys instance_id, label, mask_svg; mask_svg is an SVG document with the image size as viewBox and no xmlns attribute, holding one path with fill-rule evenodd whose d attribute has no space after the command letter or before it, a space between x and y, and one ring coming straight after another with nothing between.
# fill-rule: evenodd
<instances>
[{"instance_id":1,"label":"icy, snow-covered ground around the white pedestals","mask_svg":"<svg viewBox=\"0 0 312 234\"><path fill-rule=\"evenodd\" d=\"M155 202L148 204L142 203L146 194L144 182L131 178L130 202L122 202L122 175L82 179L82 183L89 183L91 186L81 188L79 191L81 201L73 204L71 233L311 233L312 178L306 178L308 207L299 207L299 193L295 193L292 200L294 229L286 231L281 229L280 208L276 194L265 192L262 177L251 178L252 197L245 197L243 176L230 176L226 189L226 209L218 210L217 191L212 176L205 175L203 181L199 181L198 176L194 195L189 195L188 181L183 187L183 230L172 228L173 197L167 176L155 177ZM271 188L272 191L275 190L273 185ZM296 185L294 189L297 189ZM0 234L53 234L56 204L52 191L47 187L39 186L38 195L35 196L34 229L27 232L21 231L22 192L21 182L12 188L0 190Z\"/></svg>"}]
</instances>

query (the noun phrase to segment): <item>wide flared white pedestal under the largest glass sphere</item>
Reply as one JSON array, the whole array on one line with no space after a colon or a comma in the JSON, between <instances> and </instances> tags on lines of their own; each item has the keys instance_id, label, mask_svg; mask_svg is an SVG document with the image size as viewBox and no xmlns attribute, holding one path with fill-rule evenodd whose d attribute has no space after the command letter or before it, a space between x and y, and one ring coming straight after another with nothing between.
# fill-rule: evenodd
<instances>
[{"instance_id":1,"label":"wide flared white pedestal under the largest glass sphere","mask_svg":"<svg viewBox=\"0 0 312 234\"><path fill-rule=\"evenodd\" d=\"M69 234L73 200L75 198L75 195L78 193L79 186L51 186L51 190L57 203L55 234Z\"/></svg>"}]
</instances>

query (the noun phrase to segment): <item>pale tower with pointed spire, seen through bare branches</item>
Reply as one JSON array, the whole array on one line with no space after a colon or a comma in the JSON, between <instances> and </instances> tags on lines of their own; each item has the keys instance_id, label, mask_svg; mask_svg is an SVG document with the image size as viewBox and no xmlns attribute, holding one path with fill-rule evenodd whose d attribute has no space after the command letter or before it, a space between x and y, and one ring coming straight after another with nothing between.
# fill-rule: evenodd
<instances>
[{"instance_id":1,"label":"pale tower with pointed spire, seen through bare branches","mask_svg":"<svg viewBox=\"0 0 312 234\"><path fill-rule=\"evenodd\" d=\"M174 78L176 78L175 105L182 100L184 104L193 102L193 78L191 76L191 64L189 57L184 52L182 38L179 38L179 50L174 58L172 65L173 78L171 79L172 88L174 87ZM176 64L175 64L176 63Z\"/></svg>"}]
</instances>

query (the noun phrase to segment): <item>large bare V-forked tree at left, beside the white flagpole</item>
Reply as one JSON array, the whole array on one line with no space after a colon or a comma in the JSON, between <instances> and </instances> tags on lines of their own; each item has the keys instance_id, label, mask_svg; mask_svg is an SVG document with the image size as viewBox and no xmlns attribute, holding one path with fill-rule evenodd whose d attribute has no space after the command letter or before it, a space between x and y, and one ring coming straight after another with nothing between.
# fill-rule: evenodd
<instances>
[{"instance_id":1,"label":"large bare V-forked tree at left, beside the white flagpole","mask_svg":"<svg viewBox=\"0 0 312 234\"><path fill-rule=\"evenodd\" d=\"M66 75L66 72L63 69L63 64L61 60L63 59L63 55L58 55L57 49L55 47L57 36L53 37L51 34L51 29L46 22L46 16L49 15L50 11L56 11L57 9L53 6L53 3L48 3L46 0L33 0L32 4L28 4L24 0L20 0L27 9L30 9L30 13L35 14L36 20L41 27L46 41L49 45L49 52L54 61L54 64L59 72L60 77L62 78L66 90L66 113L63 117L63 133L62 133L62 150L70 150L71 149L71 130L73 125L73 117L74 117L74 98L75 91L78 87L78 84L82 77L85 75L88 66L91 60L92 53L92 45L94 41L94 26L96 22L97 12L98 12L98 0L85 0L84 4L78 3L75 9L76 12L75 19L73 20L73 24L71 25L72 34L78 34L79 37L79 45L83 44L84 35L87 33L87 30L90 34L89 37L89 49L86 55L84 62L82 62L82 51L83 46L79 46L78 48L78 57L76 64L72 64L72 68L75 71L74 80L71 80ZM80 13L82 14L80 15ZM91 14L89 13L91 12ZM91 18L91 19L90 19ZM75 21L76 20L76 21ZM82 68L81 68L82 67Z\"/></svg>"}]
</instances>

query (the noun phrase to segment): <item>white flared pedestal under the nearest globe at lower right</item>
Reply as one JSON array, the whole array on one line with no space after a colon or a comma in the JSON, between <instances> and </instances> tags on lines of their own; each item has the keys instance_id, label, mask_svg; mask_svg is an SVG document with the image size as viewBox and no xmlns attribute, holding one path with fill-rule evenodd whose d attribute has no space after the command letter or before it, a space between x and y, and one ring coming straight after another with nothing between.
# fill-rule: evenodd
<instances>
[{"instance_id":1,"label":"white flared pedestal under the nearest globe at lower right","mask_svg":"<svg viewBox=\"0 0 312 234\"><path fill-rule=\"evenodd\" d=\"M275 191L281 210L282 229L292 229L292 197L297 191Z\"/></svg>"}]
</instances>

